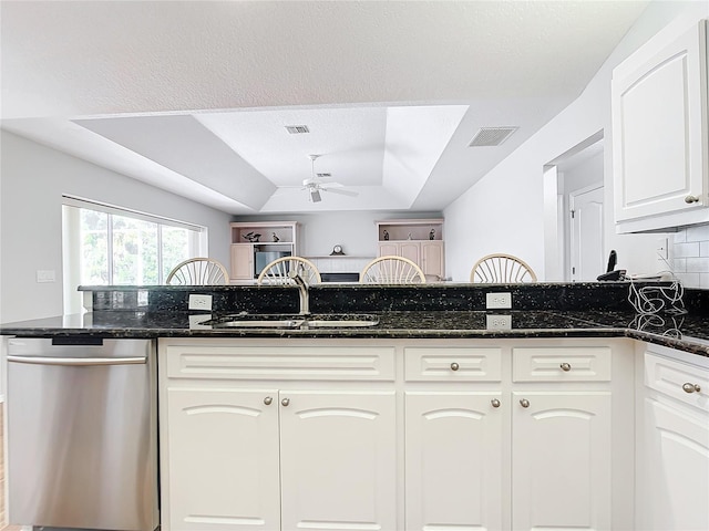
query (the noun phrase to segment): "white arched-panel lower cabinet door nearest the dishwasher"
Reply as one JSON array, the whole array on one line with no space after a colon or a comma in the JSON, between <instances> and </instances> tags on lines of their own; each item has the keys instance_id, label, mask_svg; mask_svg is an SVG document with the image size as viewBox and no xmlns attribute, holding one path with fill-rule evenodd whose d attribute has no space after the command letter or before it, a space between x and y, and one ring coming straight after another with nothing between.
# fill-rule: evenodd
<instances>
[{"instance_id":1,"label":"white arched-panel lower cabinet door nearest the dishwasher","mask_svg":"<svg viewBox=\"0 0 709 531\"><path fill-rule=\"evenodd\" d=\"M167 529L279 529L277 397L276 391L168 389Z\"/></svg>"}]
</instances>

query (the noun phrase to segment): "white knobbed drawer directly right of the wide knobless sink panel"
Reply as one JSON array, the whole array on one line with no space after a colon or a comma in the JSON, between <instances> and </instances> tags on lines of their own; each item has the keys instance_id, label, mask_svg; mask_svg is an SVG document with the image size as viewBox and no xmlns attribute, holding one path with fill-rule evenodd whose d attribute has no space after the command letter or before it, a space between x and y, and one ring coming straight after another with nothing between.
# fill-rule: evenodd
<instances>
[{"instance_id":1,"label":"white knobbed drawer directly right of the wide knobless sink panel","mask_svg":"<svg viewBox=\"0 0 709 531\"><path fill-rule=\"evenodd\" d=\"M404 348L407 382L500 382L502 350Z\"/></svg>"}]
</instances>

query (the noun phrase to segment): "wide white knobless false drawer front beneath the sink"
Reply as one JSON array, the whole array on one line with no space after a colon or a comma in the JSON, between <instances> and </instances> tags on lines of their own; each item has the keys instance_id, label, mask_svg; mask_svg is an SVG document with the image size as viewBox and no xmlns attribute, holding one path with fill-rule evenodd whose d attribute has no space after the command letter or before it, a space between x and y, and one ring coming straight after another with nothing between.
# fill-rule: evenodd
<instances>
[{"instance_id":1,"label":"wide white knobless false drawer front beneath the sink","mask_svg":"<svg viewBox=\"0 0 709 531\"><path fill-rule=\"evenodd\" d=\"M168 345L168 378L394 379L393 347Z\"/></svg>"}]
</instances>

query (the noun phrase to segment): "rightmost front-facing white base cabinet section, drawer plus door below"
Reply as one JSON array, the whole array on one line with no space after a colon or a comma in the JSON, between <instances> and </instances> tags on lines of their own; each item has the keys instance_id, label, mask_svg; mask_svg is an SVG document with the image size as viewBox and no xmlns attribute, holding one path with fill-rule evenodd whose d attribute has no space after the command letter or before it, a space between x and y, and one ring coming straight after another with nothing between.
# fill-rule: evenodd
<instances>
[{"instance_id":1,"label":"rightmost front-facing white base cabinet section, drawer plus door below","mask_svg":"<svg viewBox=\"0 0 709 531\"><path fill-rule=\"evenodd\" d=\"M613 529L610 346L520 346L512 363L512 529Z\"/></svg>"}]
</instances>

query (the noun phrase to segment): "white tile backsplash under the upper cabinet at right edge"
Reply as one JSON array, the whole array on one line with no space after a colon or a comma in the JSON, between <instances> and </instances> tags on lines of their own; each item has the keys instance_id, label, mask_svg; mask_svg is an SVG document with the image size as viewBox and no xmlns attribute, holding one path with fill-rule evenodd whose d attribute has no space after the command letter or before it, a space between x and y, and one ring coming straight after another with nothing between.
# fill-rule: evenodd
<instances>
[{"instance_id":1,"label":"white tile backsplash under the upper cabinet at right edge","mask_svg":"<svg viewBox=\"0 0 709 531\"><path fill-rule=\"evenodd\" d=\"M669 263L686 288L709 289L709 225L675 232Z\"/></svg>"}]
</instances>

